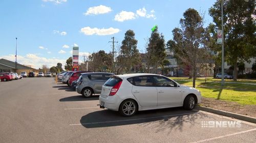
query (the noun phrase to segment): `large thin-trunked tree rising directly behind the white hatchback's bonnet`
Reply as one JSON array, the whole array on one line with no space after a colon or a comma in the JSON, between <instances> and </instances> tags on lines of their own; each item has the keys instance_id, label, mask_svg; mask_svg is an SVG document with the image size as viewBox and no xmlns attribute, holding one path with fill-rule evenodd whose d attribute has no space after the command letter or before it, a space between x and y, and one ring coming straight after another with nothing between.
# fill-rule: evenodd
<instances>
[{"instance_id":1,"label":"large thin-trunked tree rising directly behind the white hatchback's bonnet","mask_svg":"<svg viewBox=\"0 0 256 143\"><path fill-rule=\"evenodd\" d=\"M183 16L181 28L174 28L174 38L168 41L168 47L191 70L195 88L197 72L209 60L208 34L203 27L203 18L195 9L187 9Z\"/></svg>"}]
</instances>

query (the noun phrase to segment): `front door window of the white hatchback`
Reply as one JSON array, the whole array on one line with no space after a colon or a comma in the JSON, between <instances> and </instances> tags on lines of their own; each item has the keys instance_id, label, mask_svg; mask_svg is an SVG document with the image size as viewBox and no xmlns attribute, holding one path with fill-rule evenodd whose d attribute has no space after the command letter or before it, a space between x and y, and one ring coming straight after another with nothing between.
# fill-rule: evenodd
<instances>
[{"instance_id":1,"label":"front door window of the white hatchback","mask_svg":"<svg viewBox=\"0 0 256 143\"><path fill-rule=\"evenodd\" d=\"M154 76L157 87L176 87L176 83L163 76Z\"/></svg>"}]
</instances>

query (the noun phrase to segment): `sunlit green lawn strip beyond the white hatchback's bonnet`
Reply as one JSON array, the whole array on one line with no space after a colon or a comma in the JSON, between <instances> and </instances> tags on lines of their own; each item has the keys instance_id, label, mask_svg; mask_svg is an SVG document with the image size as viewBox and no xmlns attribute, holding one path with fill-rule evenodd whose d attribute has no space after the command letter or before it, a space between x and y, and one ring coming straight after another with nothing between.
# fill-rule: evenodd
<instances>
[{"instance_id":1,"label":"sunlit green lawn strip beyond the white hatchback's bonnet","mask_svg":"<svg viewBox=\"0 0 256 143\"><path fill-rule=\"evenodd\" d=\"M188 78L172 78L179 79L176 80L180 84L192 87L193 81L187 80ZM201 92L203 97L214 98L225 101L237 102L242 105L256 105L256 85L247 85L238 83L228 83L222 87L221 83L212 82L215 79L207 80L196 80L196 88ZM255 82L256 83L256 82Z\"/></svg>"}]
</instances>

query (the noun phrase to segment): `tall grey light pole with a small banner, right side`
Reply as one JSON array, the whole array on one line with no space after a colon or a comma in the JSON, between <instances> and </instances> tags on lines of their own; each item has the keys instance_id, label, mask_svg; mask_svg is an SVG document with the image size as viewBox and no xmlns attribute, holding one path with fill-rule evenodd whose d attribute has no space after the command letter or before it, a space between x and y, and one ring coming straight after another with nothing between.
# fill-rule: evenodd
<instances>
[{"instance_id":1,"label":"tall grey light pole with a small banner, right side","mask_svg":"<svg viewBox=\"0 0 256 143\"><path fill-rule=\"evenodd\" d=\"M224 29L223 29L223 0L221 1L221 85L224 85Z\"/></svg>"}]
</instances>

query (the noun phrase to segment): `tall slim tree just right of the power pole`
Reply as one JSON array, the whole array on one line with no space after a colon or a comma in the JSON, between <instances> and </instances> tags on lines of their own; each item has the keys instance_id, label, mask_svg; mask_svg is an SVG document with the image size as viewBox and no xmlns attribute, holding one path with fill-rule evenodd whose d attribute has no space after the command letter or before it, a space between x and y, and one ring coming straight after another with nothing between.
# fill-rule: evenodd
<instances>
[{"instance_id":1,"label":"tall slim tree just right of the power pole","mask_svg":"<svg viewBox=\"0 0 256 143\"><path fill-rule=\"evenodd\" d=\"M119 56L119 58L123 58L123 65L127 73L131 73L131 69L140 63L137 43L135 33L132 30L127 30L120 47L122 56Z\"/></svg>"}]
</instances>

